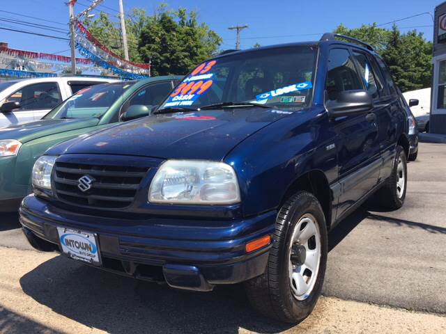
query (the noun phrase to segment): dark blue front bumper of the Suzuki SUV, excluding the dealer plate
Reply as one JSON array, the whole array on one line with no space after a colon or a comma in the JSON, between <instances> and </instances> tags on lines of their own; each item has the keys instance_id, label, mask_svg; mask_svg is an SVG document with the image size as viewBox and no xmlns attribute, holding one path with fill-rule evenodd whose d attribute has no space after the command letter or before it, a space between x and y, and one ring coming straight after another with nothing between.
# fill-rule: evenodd
<instances>
[{"instance_id":1,"label":"dark blue front bumper of the Suzuki SUV, excluding the dealer plate","mask_svg":"<svg viewBox=\"0 0 446 334\"><path fill-rule=\"evenodd\" d=\"M276 214L270 211L252 218L219 221L109 218L66 211L29 195L20 207L20 223L36 248L36 242L40 245L43 241L47 250L60 251L57 226L95 232L102 269L208 291L213 285L240 283L265 271L271 245L249 254L245 245L272 235Z\"/></svg>"}]
</instances>

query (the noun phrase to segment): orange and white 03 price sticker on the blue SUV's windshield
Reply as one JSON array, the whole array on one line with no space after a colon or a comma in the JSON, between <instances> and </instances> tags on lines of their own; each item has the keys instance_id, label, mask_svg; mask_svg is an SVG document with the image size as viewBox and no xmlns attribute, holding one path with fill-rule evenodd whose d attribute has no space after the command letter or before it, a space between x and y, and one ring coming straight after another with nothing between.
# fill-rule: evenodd
<instances>
[{"instance_id":1,"label":"orange and white 03 price sticker on the blue SUV's windshield","mask_svg":"<svg viewBox=\"0 0 446 334\"><path fill-rule=\"evenodd\" d=\"M210 69L217 63L217 61L208 61L202 63L190 75L183 80L171 93L169 100L164 104L168 106L191 106L200 95L206 92L214 83L210 78L213 73L208 73Z\"/></svg>"}]
</instances>

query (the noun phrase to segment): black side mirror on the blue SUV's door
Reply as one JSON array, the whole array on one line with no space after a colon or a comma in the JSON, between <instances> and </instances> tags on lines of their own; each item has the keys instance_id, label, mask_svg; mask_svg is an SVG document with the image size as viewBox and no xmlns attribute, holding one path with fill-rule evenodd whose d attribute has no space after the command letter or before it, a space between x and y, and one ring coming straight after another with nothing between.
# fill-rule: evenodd
<instances>
[{"instance_id":1,"label":"black side mirror on the blue SUV's door","mask_svg":"<svg viewBox=\"0 0 446 334\"><path fill-rule=\"evenodd\" d=\"M339 92L337 100L325 102L330 117L360 115L373 111L374 102L365 90L346 90Z\"/></svg>"}]
</instances>

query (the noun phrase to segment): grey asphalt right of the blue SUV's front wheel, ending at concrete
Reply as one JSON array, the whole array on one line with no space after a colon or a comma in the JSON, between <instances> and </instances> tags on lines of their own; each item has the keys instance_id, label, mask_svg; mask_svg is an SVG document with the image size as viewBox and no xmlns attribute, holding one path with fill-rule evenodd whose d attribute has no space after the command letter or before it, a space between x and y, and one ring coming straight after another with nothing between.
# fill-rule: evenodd
<instances>
[{"instance_id":1,"label":"grey asphalt right of the blue SUV's front wheel, ending at concrete","mask_svg":"<svg viewBox=\"0 0 446 334\"><path fill-rule=\"evenodd\" d=\"M420 143L403 207L367 203L332 231L323 293L445 314L445 207L446 145Z\"/></svg>"}]
</instances>

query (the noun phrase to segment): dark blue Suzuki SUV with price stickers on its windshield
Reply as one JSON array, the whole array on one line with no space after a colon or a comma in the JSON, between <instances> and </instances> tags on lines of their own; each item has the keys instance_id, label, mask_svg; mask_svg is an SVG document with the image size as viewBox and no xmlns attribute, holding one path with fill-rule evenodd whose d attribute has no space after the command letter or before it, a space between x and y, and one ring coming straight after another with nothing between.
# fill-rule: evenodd
<instances>
[{"instance_id":1,"label":"dark blue Suzuki SUV with price stickers on its windshield","mask_svg":"<svg viewBox=\"0 0 446 334\"><path fill-rule=\"evenodd\" d=\"M401 100L378 54L345 36L222 54L150 116L40 157L24 234L180 289L243 282L263 315L302 321L321 294L328 231L375 193L403 205Z\"/></svg>"}]
</instances>

